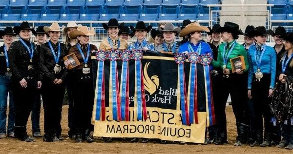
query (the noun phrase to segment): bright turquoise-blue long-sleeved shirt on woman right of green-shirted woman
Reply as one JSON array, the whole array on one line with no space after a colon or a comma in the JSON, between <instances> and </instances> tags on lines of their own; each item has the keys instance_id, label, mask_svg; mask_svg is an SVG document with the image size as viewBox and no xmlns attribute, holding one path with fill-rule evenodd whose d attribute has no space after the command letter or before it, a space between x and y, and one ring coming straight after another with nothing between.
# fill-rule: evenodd
<instances>
[{"instance_id":1,"label":"bright turquoise-blue long-sleeved shirt on woman right of green-shirted woman","mask_svg":"<svg viewBox=\"0 0 293 154\"><path fill-rule=\"evenodd\" d=\"M260 64L260 72L265 74L271 74L271 84L270 89L274 88L275 85L275 76L276 76L276 52L270 46L266 46L265 51L260 51L256 49L263 49L263 46L253 45L247 51L247 58L249 63L249 72L248 72L248 89L251 89L251 82L254 76L254 73L257 72L257 64L254 57L254 51L256 51L257 59L260 57L261 53L264 52Z\"/></svg>"}]
</instances>

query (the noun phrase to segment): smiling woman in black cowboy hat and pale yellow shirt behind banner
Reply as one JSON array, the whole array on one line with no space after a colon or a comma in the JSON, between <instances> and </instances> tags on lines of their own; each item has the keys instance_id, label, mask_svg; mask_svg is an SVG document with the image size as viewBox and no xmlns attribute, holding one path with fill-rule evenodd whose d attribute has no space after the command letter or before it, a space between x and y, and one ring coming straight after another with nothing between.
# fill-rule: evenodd
<instances>
[{"instance_id":1,"label":"smiling woman in black cowboy hat and pale yellow shirt behind banner","mask_svg":"<svg viewBox=\"0 0 293 154\"><path fill-rule=\"evenodd\" d=\"M128 43L124 39L118 38L119 30L123 28L124 22L118 23L117 19L110 19L108 24L102 24L104 29L107 30L109 36L100 43L100 50L109 51L112 49L125 50L128 48Z\"/></svg>"}]
</instances>

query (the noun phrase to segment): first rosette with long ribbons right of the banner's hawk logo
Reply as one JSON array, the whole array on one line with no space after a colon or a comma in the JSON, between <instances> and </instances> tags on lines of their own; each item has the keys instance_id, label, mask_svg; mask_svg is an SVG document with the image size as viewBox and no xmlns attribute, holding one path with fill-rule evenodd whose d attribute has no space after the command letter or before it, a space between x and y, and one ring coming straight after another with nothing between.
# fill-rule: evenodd
<instances>
[{"instance_id":1,"label":"first rosette with long ribbons right of the banner's hawk logo","mask_svg":"<svg viewBox=\"0 0 293 154\"><path fill-rule=\"evenodd\" d=\"M187 94L186 94L185 75L184 75L184 62L186 60L186 57L185 57L185 54L183 53L177 53L174 59L175 59L175 62L178 64L177 103L180 102L183 125L189 125L188 104L187 104ZM180 111L178 110L179 108L177 109L177 124L178 124L178 117L180 117Z\"/></svg>"}]
</instances>

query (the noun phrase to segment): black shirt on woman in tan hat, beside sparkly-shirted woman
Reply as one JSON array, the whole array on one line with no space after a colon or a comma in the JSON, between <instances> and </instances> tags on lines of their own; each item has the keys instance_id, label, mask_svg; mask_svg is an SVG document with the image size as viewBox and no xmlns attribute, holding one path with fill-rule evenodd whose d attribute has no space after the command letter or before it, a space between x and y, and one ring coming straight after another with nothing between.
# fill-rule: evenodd
<instances>
[{"instance_id":1,"label":"black shirt on woman in tan hat, beside sparkly-shirted woman","mask_svg":"<svg viewBox=\"0 0 293 154\"><path fill-rule=\"evenodd\" d=\"M52 41L50 41L50 43L53 47L55 55L58 56L58 48L59 48L58 42L54 44ZM64 71L65 65L64 65L63 57L67 55L67 48L63 43L60 43L60 45L61 45L61 53L60 53L58 65L62 67L62 70L59 73L54 72L54 67L56 65L56 62L52 54L51 48L49 46L49 43L46 42L42 44L40 47L40 69L42 73L44 73L45 77L50 78L52 81L54 81L56 78L60 78L64 81L66 76L66 71Z\"/></svg>"}]
</instances>

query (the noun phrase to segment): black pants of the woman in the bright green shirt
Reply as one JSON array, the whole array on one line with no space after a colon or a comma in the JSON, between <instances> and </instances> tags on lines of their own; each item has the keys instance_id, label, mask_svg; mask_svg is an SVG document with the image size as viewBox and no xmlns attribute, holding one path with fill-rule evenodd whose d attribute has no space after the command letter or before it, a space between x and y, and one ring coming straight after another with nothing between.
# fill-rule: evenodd
<instances>
[{"instance_id":1,"label":"black pants of the woman in the bright green shirt","mask_svg":"<svg viewBox=\"0 0 293 154\"><path fill-rule=\"evenodd\" d=\"M215 114L217 123L217 140L226 142L227 140L227 120L226 120L226 103L231 96L232 108L236 119L238 141L245 142L248 137L248 115L247 115L247 74L238 75L231 73L229 77L223 77L219 90L219 101L215 103Z\"/></svg>"}]
</instances>

